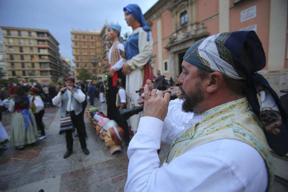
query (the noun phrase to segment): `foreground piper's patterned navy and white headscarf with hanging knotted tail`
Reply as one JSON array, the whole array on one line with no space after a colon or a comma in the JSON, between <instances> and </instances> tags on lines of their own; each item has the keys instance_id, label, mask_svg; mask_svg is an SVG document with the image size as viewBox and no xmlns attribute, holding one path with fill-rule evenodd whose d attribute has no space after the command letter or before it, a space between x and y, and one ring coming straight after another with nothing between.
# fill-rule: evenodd
<instances>
[{"instance_id":1,"label":"foreground piper's patterned navy and white headscarf with hanging knotted tail","mask_svg":"<svg viewBox=\"0 0 288 192\"><path fill-rule=\"evenodd\" d=\"M241 62L243 47L249 50L251 66ZM268 81L256 73L265 67L262 43L255 31L235 31L212 35L195 42L183 60L225 78L245 81L244 94L264 128L271 149L278 155L288 152L288 115ZM259 104L257 93L261 97Z\"/></svg>"}]
</instances>

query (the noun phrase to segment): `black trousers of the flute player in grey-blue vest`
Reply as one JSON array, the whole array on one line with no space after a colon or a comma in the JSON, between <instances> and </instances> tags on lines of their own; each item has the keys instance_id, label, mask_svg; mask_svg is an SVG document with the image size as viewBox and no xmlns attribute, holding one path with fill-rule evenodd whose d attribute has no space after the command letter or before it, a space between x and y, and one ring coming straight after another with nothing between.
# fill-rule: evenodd
<instances>
[{"instance_id":1,"label":"black trousers of the flute player in grey-blue vest","mask_svg":"<svg viewBox=\"0 0 288 192\"><path fill-rule=\"evenodd\" d=\"M84 125L84 116L83 116L84 111L79 113L78 115L75 114L75 111L70 111L70 117L73 125L77 129L79 141L81 144L81 148L84 149L86 148L86 140L85 140L85 129L83 127ZM73 151L73 137L72 137L72 132L73 130L66 130L66 147L68 151Z\"/></svg>"}]
</instances>

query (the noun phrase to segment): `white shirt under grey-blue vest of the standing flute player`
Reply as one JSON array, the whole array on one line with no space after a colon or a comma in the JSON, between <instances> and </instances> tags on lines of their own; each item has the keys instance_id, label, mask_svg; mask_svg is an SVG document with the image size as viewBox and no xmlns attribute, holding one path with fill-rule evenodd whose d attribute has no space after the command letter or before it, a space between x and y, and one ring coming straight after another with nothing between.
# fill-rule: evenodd
<instances>
[{"instance_id":1,"label":"white shirt under grey-blue vest of the standing flute player","mask_svg":"<svg viewBox=\"0 0 288 192\"><path fill-rule=\"evenodd\" d=\"M67 101L67 107L66 107L66 111L73 111L74 110L74 106L73 104L71 104L72 100L71 100L71 91L66 90L67 91L67 96L68 96L68 101ZM77 91L77 93L76 93ZM85 94L80 90L77 89L74 93L73 93L73 97L79 102L82 103L85 100ZM52 99L52 103L53 105L59 105L61 103L62 100L62 95L61 92L59 92L53 99ZM71 108L70 108L71 107Z\"/></svg>"}]
</instances>

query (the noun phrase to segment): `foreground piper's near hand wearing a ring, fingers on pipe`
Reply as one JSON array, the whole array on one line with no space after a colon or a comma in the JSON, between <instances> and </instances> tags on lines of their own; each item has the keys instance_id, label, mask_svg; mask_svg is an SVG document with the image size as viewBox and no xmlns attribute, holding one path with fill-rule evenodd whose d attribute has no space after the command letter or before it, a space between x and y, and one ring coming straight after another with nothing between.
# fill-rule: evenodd
<instances>
[{"instance_id":1,"label":"foreground piper's near hand wearing a ring, fingers on pipe","mask_svg":"<svg viewBox=\"0 0 288 192\"><path fill-rule=\"evenodd\" d=\"M168 105L170 101L170 94L165 93L163 97L163 92L159 91L156 94L157 89L153 89L151 91L151 95L149 94L148 85L144 86L144 116L156 117L161 121L164 121L167 112Z\"/></svg>"}]
</instances>

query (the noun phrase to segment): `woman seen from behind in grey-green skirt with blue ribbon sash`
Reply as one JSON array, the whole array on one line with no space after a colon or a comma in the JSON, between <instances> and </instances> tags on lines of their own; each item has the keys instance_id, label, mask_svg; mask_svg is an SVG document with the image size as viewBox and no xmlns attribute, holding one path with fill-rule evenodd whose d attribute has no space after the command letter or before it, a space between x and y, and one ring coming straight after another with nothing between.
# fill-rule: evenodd
<instances>
[{"instance_id":1,"label":"woman seen from behind in grey-green skirt with blue ribbon sash","mask_svg":"<svg viewBox=\"0 0 288 192\"><path fill-rule=\"evenodd\" d=\"M9 111L13 113L10 125L11 146L24 149L25 144L37 141L38 131L35 117L30 107L30 100L22 87L14 89L15 96L10 101Z\"/></svg>"}]
</instances>

